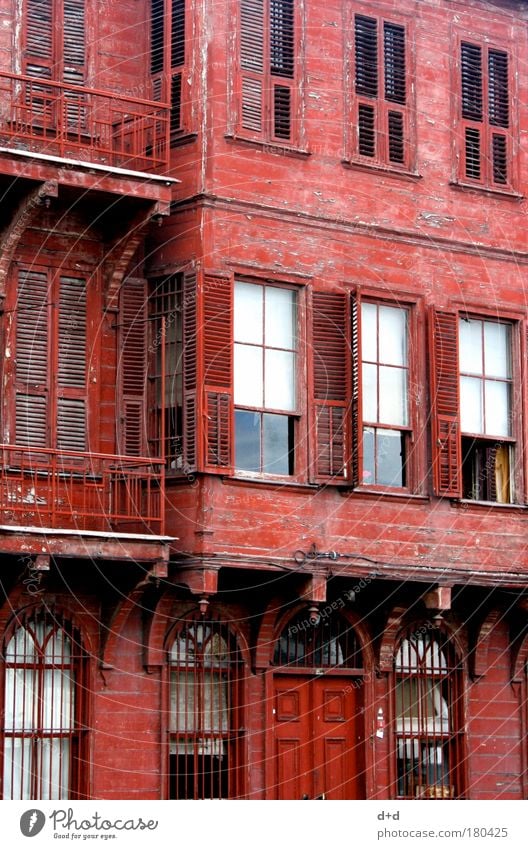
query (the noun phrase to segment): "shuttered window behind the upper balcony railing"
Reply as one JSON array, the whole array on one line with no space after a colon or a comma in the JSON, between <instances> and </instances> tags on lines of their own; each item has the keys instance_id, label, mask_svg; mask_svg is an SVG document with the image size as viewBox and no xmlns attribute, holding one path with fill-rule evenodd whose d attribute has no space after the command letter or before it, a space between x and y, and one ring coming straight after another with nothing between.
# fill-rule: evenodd
<instances>
[{"instance_id":1,"label":"shuttered window behind the upper balcony railing","mask_svg":"<svg viewBox=\"0 0 528 849\"><path fill-rule=\"evenodd\" d=\"M25 0L22 73L70 86L86 82L84 0ZM58 90L42 83L25 85L25 106L32 121L55 126ZM85 129L85 96L65 89L65 117L72 130Z\"/></svg>"}]
</instances>

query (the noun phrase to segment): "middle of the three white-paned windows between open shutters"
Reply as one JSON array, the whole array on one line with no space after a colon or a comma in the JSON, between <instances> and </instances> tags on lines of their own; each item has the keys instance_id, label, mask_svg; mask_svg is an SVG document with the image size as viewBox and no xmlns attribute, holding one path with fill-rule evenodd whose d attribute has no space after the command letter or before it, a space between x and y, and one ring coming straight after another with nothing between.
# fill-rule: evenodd
<instances>
[{"instance_id":1,"label":"middle of the three white-paned windows between open shutters","mask_svg":"<svg viewBox=\"0 0 528 849\"><path fill-rule=\"evenodd\" d=\"M362 483L406 486L408 311L361 304Z\"/></svg>"}]
</instances>

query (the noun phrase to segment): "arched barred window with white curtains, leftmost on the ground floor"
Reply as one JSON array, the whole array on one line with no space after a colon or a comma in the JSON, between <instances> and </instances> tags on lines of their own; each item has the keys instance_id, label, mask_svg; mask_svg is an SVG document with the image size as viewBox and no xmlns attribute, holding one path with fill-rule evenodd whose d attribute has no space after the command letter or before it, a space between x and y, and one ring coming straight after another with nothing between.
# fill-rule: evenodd
<instances>
[{"instance_id":1,"label":"arched barred window with white curtains, leftmost on the ground floor","mask_svg":"<svg viewBox=\"0 0 528 849\"><path fill-rule=\"evenodd\" d=\"M49 612L18 621L4 648L3 798L80 798L84 654Z\"/></svg>"}]
</instances>

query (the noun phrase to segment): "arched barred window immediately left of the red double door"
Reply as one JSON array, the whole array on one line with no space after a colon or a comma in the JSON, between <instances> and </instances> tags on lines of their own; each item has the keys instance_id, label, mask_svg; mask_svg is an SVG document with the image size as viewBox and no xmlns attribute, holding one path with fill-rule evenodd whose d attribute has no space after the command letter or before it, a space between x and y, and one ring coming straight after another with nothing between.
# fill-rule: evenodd
<instances>
[{"instance_id":1,"label":"arched barred window immediately left of the red double door","mask_svg":"<svg viewBox=\"0 0 528 849\"><path fill-rule=\"evenodd\" d=\"M242 660L216 620L191 620L169 648L169 798L242 795Z\"/></svg>"}]
</instances>

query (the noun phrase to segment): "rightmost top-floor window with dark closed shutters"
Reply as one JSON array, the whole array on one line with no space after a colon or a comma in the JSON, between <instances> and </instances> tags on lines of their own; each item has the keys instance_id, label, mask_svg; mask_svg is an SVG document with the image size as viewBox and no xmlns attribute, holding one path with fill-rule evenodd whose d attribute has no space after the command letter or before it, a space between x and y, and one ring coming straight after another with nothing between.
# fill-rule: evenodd
<instances>
[{"instance_id":1,"label":"rightmost top-floor window with dark closed shutters","mask_svg":"<svg viewBox=\"0 0 528 849\"><path fill-rule=\"evenodd\" d=\"M490 188L512 185L511 62L504 50L460 44L459 179Z\"/></svg>"}]
</instances>

